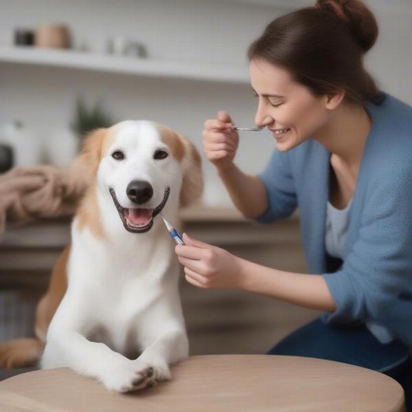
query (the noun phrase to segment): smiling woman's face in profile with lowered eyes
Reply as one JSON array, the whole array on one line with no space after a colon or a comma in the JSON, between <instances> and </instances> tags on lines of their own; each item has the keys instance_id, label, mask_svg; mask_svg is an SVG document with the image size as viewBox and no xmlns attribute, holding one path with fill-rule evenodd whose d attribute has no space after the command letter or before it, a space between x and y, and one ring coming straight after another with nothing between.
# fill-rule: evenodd
<instances>
[{"instance_id":1,"label":"smiling woman's face in profile with lowered eyes","mask_svg":"<svg viewBox=\"0 0 412 412\"><path fill-rule=\"evenodd\" d=\"M249 71L259 98L255 123L271 130L279 151L286 152L315 137L328 121L327 97L312 95L286 69L255 59L251 60Z\"/></svg>"}]
</instances>

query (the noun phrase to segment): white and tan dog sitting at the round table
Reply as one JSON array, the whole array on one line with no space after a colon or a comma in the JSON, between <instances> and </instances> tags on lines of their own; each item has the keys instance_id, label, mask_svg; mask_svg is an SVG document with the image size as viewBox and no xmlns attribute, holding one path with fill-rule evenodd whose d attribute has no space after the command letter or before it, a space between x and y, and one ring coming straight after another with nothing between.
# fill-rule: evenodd
<instances>
[{"instance_id":1,"label":"white and tan dog sitting at the round table","mask_svg":"<svg viewBox=\"0 0 412 412\"><path fill-rule=\"evenodd\" d=\"M174 242L156 216L177 222L200 196L201 157L165 126L125 121L91 133L78 164L93 183L38 305L37 339L11 341L7 354L0 347L0 363L21 366L45 345L43 369L141 389L169 379L169 365L188 354Z\"/></svg>"}]
</instances>

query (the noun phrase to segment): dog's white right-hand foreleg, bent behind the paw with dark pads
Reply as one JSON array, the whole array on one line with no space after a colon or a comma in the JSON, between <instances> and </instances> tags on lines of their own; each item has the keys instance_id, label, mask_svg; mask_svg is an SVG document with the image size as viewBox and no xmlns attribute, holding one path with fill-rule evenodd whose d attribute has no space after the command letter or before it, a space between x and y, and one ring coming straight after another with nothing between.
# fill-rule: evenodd
<instances>
[{"instance_id":1,"label":"dog's white right-hand foreleg, bent behind the paw with dark pads","mask_svg":"<svg viewBox=\"0 0 412 412\"><path fill-rule=\"evenodd\" d=\"M169 380L171 378L169 365L175 363L189 354L189 343L183 329L162 332L152 340L139 358L135 360L138 365L148 365L153 369L153 380Z\"/></svg>"}]
</instances>

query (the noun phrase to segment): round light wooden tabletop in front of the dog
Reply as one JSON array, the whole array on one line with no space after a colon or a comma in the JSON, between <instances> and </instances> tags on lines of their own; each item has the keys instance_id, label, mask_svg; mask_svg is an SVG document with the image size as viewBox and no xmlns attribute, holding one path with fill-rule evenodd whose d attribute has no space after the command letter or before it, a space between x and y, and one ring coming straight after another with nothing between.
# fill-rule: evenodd
<instances>
[{"instance_id":1,"label":"round light wooden tabletop in front of the dog","mask_svg":"<svg viewBox=\"0 0 412 412\"><path fill-rule=\"evenodd\" d=\"M402 387L384 374L297 356L192 356L172 380L115 393L67 368L0 382L0 411L404 411Z\"/></svg>"}]
</instances>

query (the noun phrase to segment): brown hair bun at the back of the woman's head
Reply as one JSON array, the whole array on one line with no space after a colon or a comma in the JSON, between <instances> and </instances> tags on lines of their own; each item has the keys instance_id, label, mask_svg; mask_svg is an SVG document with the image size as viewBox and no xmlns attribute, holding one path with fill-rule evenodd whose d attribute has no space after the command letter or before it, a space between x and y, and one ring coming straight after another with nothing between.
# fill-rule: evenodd
<instances>
[{"instance_id":1,"label":"brown hair bun at the back of the woman's head","mask_svg":"<svg viewBox=\"0 0 412 412\"><path fill-rule=\"evenodd\" d=\"M350 28L354 38L367 52L378 38L378 24L374 14L360 0L317 0L316 7L336 14Z\"/></svg>"}]
</instances>

